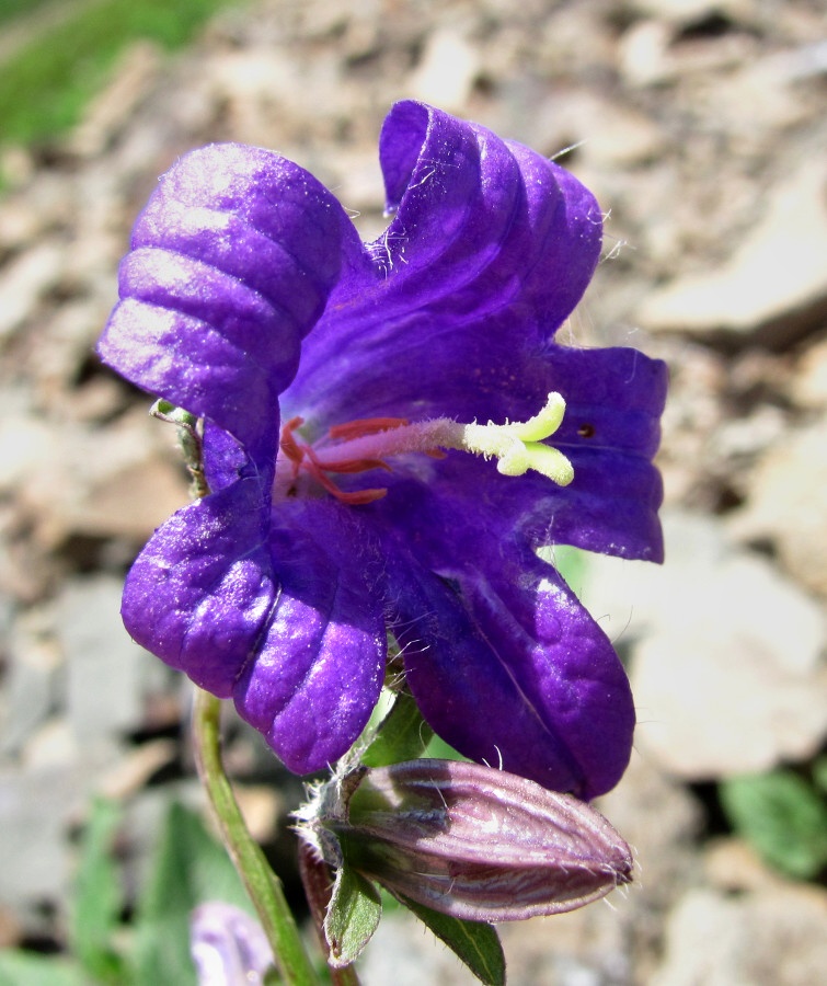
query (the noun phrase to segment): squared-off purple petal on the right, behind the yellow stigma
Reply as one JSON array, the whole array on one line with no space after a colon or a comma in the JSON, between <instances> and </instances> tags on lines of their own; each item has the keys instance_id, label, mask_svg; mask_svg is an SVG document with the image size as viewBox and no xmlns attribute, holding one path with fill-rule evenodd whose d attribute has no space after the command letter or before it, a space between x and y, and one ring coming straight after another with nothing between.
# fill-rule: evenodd
<instances>
[{"instance_id":1,"label":"squared-off purple petal on the right, behind the yellow stigma","mask_svg":"<svg viewBox=\"0 0 827 986\"><path fill-rule=\"evenodd\" d=\"M541 366L545 380L536 382L535 374L533 404L526 401L530 406L517 414L501 410L495 420L529 417L556 385L567 408L550 444L572 460L574 482L561 489L535 472L502 477L491 462L461 452L418 462L413 480L398 469L391 494L370 512L415 540L432 569L450 571L457 559L475 553L468 541L473 530L485 530L490 540L520 531L532 547L574 544L663 560L663 485L652 455L666 397L665 364L636 349L555 346Z\"/></svg>"}]
</instances>

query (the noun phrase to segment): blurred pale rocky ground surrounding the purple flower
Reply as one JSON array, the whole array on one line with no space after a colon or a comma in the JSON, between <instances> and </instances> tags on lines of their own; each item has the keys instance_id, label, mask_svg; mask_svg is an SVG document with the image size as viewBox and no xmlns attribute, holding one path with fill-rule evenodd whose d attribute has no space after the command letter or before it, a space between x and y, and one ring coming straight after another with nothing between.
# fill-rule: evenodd
<instances>
[{"instance_id":1,"label":"blurred pale rocky ground surrounding the purple flower","mask_svg":"<svg viewBox=\"0 0 827 986\"><path fill-rule=\"evenodd\" d=\"M516 925L514 984L812 986L824 881L795 883L722 821L722 779L808 764L827 735L827 5L823 0L264 0L174 61L136 45L65 141L7 149L0 199L0 943L59 943L92 792L140 859L193 787L187 692L119 626L119 587L186 500L169 429L92 347L131 221L177 154L276 148L382 228L376 139L415 96L563 162L609 214L564 330L667 359L663 569L591 563L628 656L636 754L604 811L640 880L612 906ZM230 759L254 828L274 793ZM367 984L467 983L401 917Z\"/></svg>"}]
</instances>

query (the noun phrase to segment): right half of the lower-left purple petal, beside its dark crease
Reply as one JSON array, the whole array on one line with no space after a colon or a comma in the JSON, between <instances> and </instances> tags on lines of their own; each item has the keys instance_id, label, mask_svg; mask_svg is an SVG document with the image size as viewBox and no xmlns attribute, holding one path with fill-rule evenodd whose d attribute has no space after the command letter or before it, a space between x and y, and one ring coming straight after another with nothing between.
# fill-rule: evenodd
<instances>
[{"instance_id":1,"label":"right half of the lower-left purple petal, beside its dark crease","mask_svg":"<svg viewBox=\"0 0 827 986\"><path fill-rule=\"evenodd\" d=\"M278 598L233 698L290 770L311 773L351 747L379 698L388 650L381 560L340 504L296 503L277 525L269 550Z\"/></svg>"}]
</instances>

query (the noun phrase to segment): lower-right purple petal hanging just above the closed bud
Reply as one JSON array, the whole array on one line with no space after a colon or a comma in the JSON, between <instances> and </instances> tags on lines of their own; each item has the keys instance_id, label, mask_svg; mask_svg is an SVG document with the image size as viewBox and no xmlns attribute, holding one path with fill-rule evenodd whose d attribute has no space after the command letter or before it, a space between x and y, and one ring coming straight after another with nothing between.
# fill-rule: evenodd
<instances>
[{"instance_id":1,"label":"lower-right purple petal hanging just above the closed bud","mask_svg":"<svg viewBox=\"0 0 827 986\"><path fill-rule=\"evenodd\" d=\"M497 554L495 580L469 571L444 582L407 569L394 631L406 678L426 720L460 753L590 799L629 761L629 683L556 572L528 557L517 566L516 554Z\"/></svg>"}]
</instances>

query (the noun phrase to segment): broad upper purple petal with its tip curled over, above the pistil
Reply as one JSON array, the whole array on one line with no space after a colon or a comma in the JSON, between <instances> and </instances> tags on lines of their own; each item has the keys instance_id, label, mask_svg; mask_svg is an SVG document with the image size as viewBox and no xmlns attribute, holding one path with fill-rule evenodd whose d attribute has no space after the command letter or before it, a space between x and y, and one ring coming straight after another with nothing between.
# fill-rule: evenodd
<instances>
[{"instance_id":1,"label":"broad upper purple petal with its tip curled over, above the pistil","mask_svg":"<svg viewBox=\"0 0 827 986\"><path fill-rule=\"evenodd\" d=\"M540 154L418 103L391 111L381 158L399 207L366 248L372 277L340 282L286 408L320 429L379 414L485 420L585 290L600 210Z\"/></svg>"}]
</instances>

